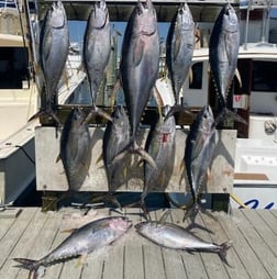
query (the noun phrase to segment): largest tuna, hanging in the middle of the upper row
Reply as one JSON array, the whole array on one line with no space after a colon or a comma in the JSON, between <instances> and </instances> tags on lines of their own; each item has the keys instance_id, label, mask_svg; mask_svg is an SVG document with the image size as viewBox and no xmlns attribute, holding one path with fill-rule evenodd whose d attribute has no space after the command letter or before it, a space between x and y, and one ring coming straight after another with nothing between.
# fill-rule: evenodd
<instances>
[{"instance_id":1,"label":"largest tuna, hanging in the middle of the upper row","mask_svg":"<svg viewBox=\"0 0 277 279\"><path fill-rule=\"evenodd\" d=\"M151 0L146 0L145 3L138 1L126 25L120 75L130 115L131 149L144 157L145 152L137 146L136 134L142 113L157 78L158 62L159 37L156 11ZM154 165L153 160L152 165Z\"/></svg>"}]
</instances>

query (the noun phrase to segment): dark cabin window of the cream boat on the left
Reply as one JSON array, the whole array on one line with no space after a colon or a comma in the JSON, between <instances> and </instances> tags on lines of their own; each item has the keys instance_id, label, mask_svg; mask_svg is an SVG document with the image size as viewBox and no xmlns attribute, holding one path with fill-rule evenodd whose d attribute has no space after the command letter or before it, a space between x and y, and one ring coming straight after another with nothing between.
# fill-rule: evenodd
<instances>
[{"instance_id":1,"label":"dark cabin window of the cream boat on the left","mask_svg":"<svg viewBox=\"0 0 277 279\"><path fill-rule=\"evenodd\" d=\"M0 89L22 89L27 80L27 52L24 47L0 47Z\"/></svg>"}]
</instances>

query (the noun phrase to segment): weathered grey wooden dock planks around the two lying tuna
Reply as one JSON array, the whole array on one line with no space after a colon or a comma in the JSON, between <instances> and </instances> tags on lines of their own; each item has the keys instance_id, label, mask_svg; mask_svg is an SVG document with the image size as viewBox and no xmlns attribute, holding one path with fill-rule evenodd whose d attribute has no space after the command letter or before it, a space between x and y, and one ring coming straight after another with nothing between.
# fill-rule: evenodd
<instances>
[{"instance_id":1,"label":"weathered grey wooden dock planks around the two lying tuna","mask_svg":"<svg viewBox=\"0 0 277 279\"><path fill-rule=\"evenodd\" d=\"M45 256L69 235L63 231L66 230L65 220L68 221L66 216L73 217L79 212L65 208L43 213L41 208L23 208L16 217L12 216L15 210L0 212L0 278L27 278L27 271L15 268L12 258ZM117 214L107 209L91 212L87 215ZM153 211L152 217L159 219L163 213ZM128 209L125 214L133 224L143 220L137 209ZM111 246L88 255L86 264L71 259L53 265L46 268L44 278L277 278L277 210L233 210L231 215L222 212L213 215L217 220L200 213L196 222L207 230L195 227L192 232L208 242L232 241L226 257L230 266L217 254L160 248L132 227ZM173 210L168 220L181 223L182 216L181 210ZM69 221L70 225L74 223Z\"/></svg>"}]
</instances>

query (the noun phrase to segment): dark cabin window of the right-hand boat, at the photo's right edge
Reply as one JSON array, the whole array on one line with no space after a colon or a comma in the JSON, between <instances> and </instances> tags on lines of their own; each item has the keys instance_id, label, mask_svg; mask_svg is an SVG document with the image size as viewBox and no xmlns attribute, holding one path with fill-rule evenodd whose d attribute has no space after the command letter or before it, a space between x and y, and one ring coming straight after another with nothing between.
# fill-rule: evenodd
<instances>
[{"instance_id":1,"label":"dark cabin window of the right-hand boat, at the photo's right edge","mask_svg":"<svg viewBox=\"0 0 277 279\"><path fill-rule=\"evenodd\" d=\"M275 62L253 62L252 91L277 92L276 72Z\"/></svg>"}]
</instances>

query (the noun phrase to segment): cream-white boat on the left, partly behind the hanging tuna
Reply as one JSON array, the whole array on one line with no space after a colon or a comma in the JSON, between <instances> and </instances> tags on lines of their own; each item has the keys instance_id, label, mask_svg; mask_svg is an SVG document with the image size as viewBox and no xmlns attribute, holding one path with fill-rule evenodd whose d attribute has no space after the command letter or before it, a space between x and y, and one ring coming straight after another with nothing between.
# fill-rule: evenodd
<instances>
[{"instance_id":1,"label":"cream-white boat on the left, partly behind the hanging tuna","mask_svg":"<svg viewBox=\"0 0 277 279\"><path fill-rule=\"evenodd\" d=\"M0 204L16 200L35 180L34 129L40 122L29 119L40 109L38 34L36 0L0 1ZM79 65L80 55L68 56L68 81L58 89L62 104L84 81Z\"/></svg>"}]
</instances>

